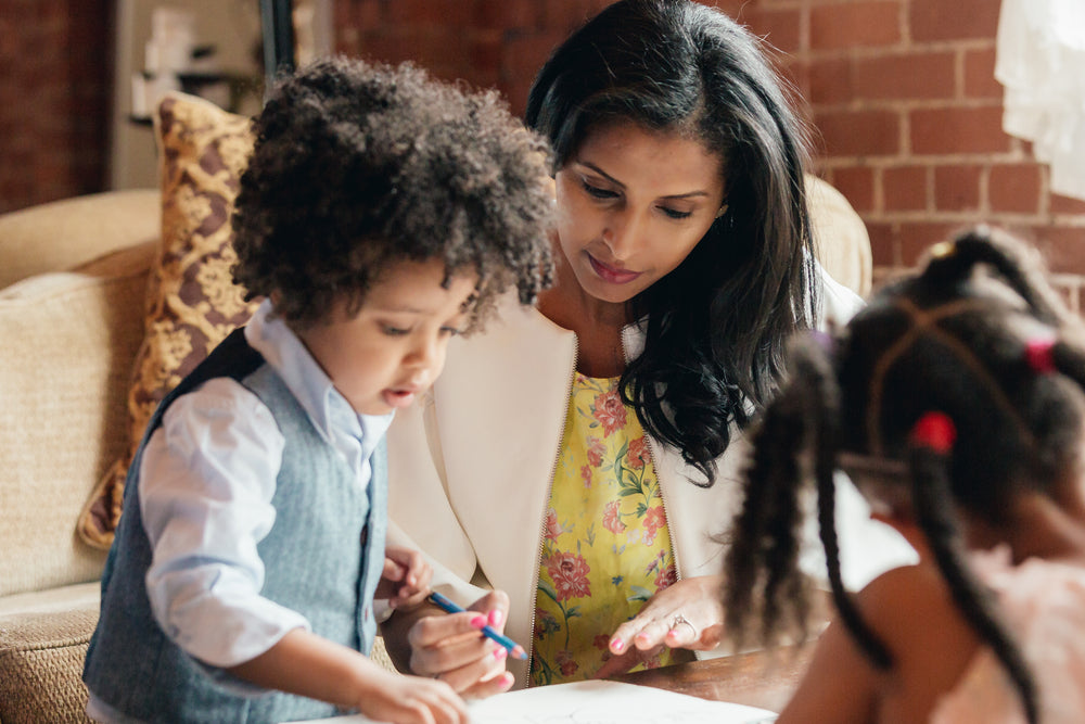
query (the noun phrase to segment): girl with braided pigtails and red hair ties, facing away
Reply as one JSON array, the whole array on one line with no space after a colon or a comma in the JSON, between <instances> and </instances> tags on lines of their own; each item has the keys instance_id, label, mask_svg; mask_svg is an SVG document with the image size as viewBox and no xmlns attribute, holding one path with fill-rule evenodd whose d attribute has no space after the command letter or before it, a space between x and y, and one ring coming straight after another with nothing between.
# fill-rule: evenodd
<instances>
[{"instance_id":1,"label":"girl with braided pigtails and red hair ties, facing away","mask_svg":"<svg viewBox=\"0 0 1085 724\"><path fill-rule=\"evenodd\" d=\"M1081 321L1004 232L932 247L837 339L799 342L756 433L725 597L740 643L805 630L813 478L839 622L779 724L1085 721L1083 435ZM837 469L920 556L854 598Z\"/></svg>"}]
</instances>

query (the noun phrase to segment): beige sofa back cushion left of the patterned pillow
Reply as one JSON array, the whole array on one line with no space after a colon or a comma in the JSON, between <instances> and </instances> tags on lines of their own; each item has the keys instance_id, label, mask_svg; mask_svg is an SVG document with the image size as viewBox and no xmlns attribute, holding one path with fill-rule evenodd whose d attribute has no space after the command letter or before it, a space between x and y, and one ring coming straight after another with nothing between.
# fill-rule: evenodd
<instances>
[{"instance_id":1,"label":"beige sofa back cushion left of the patterned pillow","mask_svg":"<svg viewBox=\"0 0 1085 724\"><path fill-rule=\"evenodd\" d=\"M0 596L101 574L72 521L128 445L145 293L146 266L130 259L0 291Z\"/></svg>"}]
</instances>

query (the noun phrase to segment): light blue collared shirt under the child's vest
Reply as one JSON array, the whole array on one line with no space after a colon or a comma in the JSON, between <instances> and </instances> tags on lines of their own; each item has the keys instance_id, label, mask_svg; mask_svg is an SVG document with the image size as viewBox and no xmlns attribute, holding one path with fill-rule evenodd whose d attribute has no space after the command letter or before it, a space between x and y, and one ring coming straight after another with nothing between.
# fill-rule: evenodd
<instances>
[{"instance_id":1,"label":"light blue collared shirt under the child's vest","mask_svg":"<svg viewBox=\"0 0 1085 724\"><path fill-rule=\"evenodd\" d=\"M245 329L248 344L282 378L358 485L392 422L358 415L305 345L265 301ZM260 596L257 544L271 507L283 436L271 411L240 383L209 380L166 410L143 452L140 512L154 550L146 590L155 619L187 653L228 668L264 653L309 623ZM315 481L316 482L316 481Z\"/></svg>"}]
</instances>

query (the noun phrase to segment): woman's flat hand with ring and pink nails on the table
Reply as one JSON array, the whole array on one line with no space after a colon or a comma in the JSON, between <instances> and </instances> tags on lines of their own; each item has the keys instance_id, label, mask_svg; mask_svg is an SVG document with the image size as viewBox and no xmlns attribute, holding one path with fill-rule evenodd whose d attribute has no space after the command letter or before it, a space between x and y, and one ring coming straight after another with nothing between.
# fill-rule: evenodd
<instances>
[{"instance_id":1,"label":"woman's flat hand with ring and pink nails on the table","mask_svg":"<svg viewBox=\"0 0 1085 724\"><path fill-rule=\"evenodd\" d=\"M706 651L724 633L723 576L682 579L652 596L634 619L611 636L611 658L596 673L605 678L629 671L662 647Z\"/></svg>"}]
</instances>

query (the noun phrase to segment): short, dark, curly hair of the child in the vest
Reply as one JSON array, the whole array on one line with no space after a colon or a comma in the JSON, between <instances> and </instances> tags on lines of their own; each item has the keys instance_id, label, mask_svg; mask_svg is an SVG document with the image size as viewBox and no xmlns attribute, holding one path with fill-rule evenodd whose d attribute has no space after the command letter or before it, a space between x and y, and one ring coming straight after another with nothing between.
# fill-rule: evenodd
<instances>
[{"instance_id":1,"label":"short, dark, curly hair of the child in the vest","mask_svg":"<svg viewBox=\"0 0 1085 724\"><path fill-rule=\"evenodd\" d=\"M397 261L476 270L471 328L508 285L527 304L550 283L549 147L496 92L336 58L279 79L254 127L233 276L283 318L356 312Z\"/></svg>"}]
</instances>

